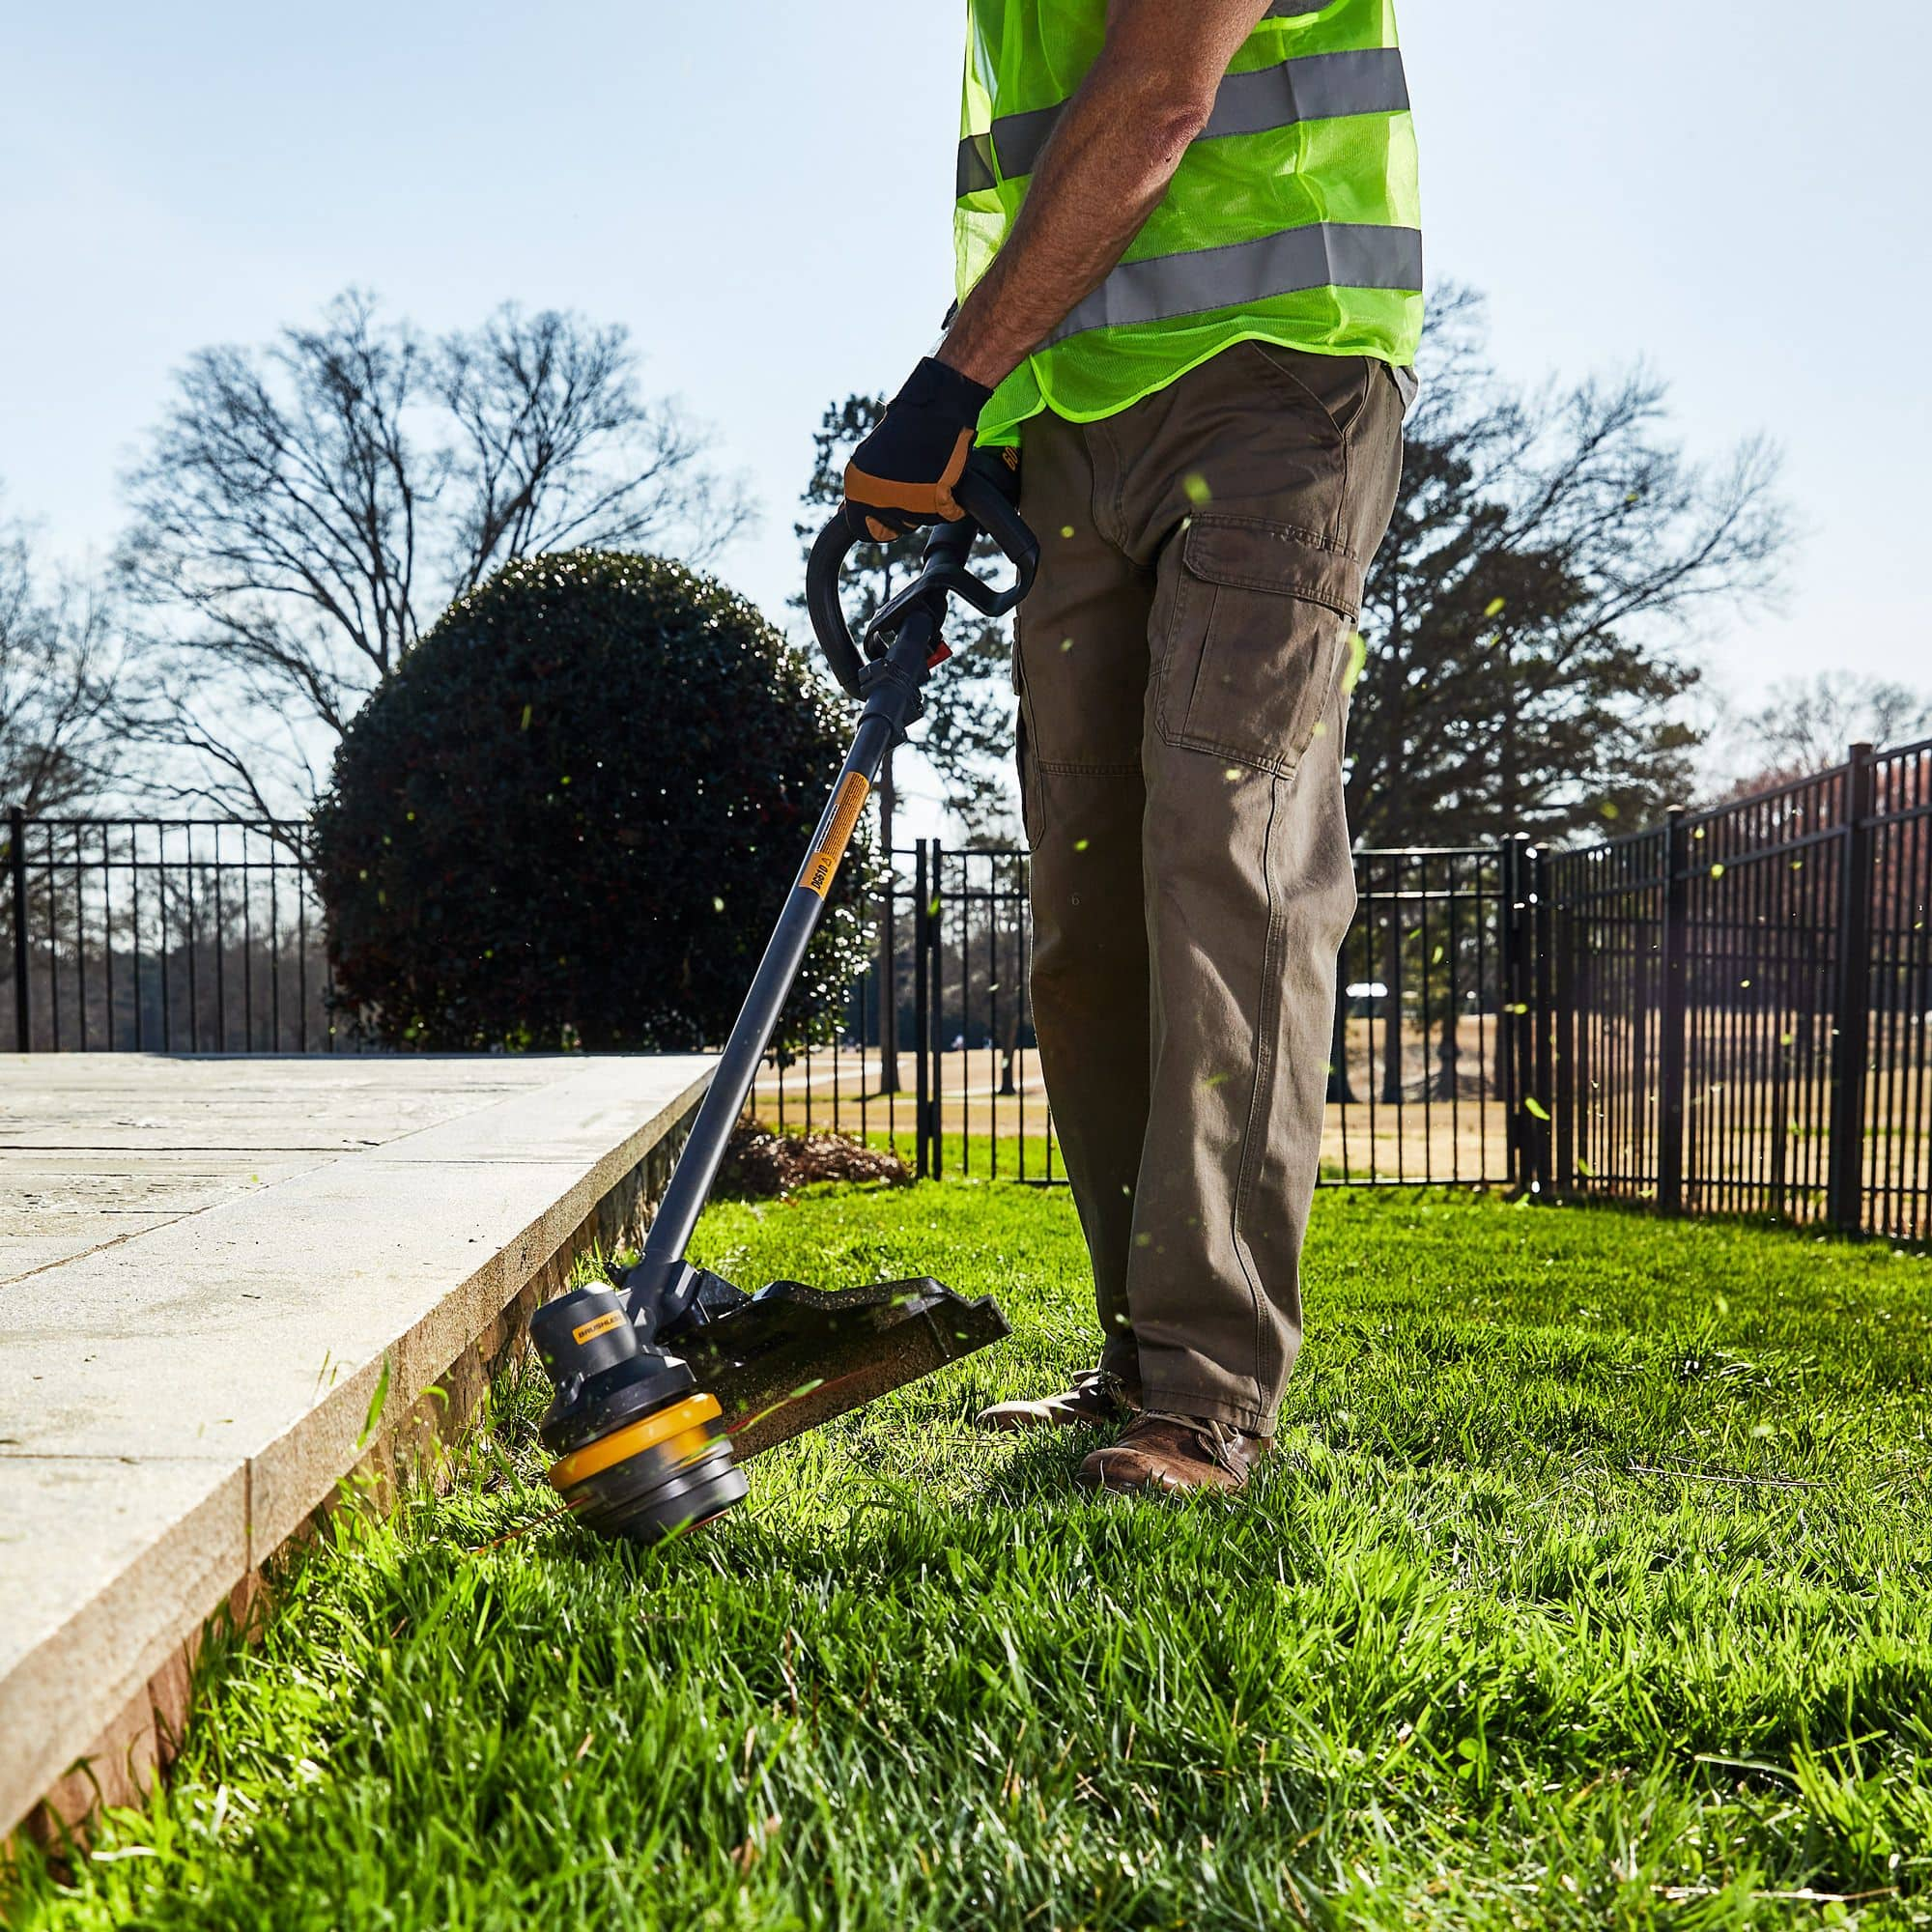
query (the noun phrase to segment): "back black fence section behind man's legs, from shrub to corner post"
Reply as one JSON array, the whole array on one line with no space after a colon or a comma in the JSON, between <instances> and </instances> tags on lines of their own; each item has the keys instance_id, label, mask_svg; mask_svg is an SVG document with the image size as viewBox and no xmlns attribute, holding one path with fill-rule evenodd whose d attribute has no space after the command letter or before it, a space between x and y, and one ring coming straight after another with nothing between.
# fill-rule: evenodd
<instances>
[{"instance_id":1,"label":"back black fence section behind man's legs, from shrub to corner post","mask_svg":"<svg viewBox=\"0 0 1932 1932\"><path fill-rule=\"evenodd\" d=\"M920 840L893 860L837 1039L773 1053L753 1109L885 1142L920 1175L1065 1180L1032 1024L1026 854ZM1325 1182L1505 1186L1524 1171L1522 864L1515 846L1358 854Z\"/></svg>"}]
</instances>

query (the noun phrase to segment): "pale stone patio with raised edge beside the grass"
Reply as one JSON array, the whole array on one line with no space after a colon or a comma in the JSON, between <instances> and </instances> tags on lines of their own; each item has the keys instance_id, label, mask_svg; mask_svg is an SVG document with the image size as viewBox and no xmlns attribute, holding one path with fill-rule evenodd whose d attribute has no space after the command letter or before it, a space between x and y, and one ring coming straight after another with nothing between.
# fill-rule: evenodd
<instances>
[{"instance_id":1,"label":"pale stone patio with raised edge beside the grass","mask_svg":"<svg viewBox=\"0 0 1932 1932\"><path fill-rule=\"evenodd\" d=\"M139 1789L203 1621L636 1236L709 1068L0 1055L0 1837Z\"/></svg>"}]
</instances>

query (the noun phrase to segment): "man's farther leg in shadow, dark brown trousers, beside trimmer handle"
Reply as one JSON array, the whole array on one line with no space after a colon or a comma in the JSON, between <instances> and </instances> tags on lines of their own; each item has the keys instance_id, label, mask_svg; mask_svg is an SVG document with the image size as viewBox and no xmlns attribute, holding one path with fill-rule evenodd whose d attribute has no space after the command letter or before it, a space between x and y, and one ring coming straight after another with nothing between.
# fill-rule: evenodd
<instances>
[{"instance_id":1,"label":"man's farther leg in shadow, dark brown trousers, beside trimmer handle","mask_svg":"<svg viewBox=\"0 0 1932 1932\"><path fill-rule=\"evenodd\" d=\"M1034 1028L1094 1258L1101 1368L1134 1387L1126 1279L1148 1126L1140 734L1153 572L1103 527L1086 429L1053 415L1028 423L1020 487L1041 543L1018 630Z\"/></svg>"}]
</instances>

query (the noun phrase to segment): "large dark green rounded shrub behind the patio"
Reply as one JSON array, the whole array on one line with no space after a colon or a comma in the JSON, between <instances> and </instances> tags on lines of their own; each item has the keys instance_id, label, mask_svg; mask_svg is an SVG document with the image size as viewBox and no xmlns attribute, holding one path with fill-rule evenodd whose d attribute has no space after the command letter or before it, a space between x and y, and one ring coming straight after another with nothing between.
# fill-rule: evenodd
<instances>
[{"instance_id":1,"label":"large dark green rounded shrub behind the patio","mask_svg":"<svg viewBox=\"0 0 1932 1932\"><path fill-rule=\"evenodd\" d=\"M692 1049L730 1030L844 755L806 661L655 556L508 564L350 723L315 811L338 1003L384 1045ZM854 850L786 1009L864 964Z\"/></svg>"}]
</instances>

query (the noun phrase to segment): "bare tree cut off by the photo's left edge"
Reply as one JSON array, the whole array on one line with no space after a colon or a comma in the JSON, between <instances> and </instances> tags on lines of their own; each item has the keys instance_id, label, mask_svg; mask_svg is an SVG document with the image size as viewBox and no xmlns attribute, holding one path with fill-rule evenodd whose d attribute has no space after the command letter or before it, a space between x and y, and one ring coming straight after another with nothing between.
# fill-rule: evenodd
<instances>
[{"instance_id":1,"label":"bare tree cut off by the photo's left edge","mask_svg":"<svg viewBox=\"0 0 1932 1932\"><path fill-rule=\"evenodd\" d=\"M100 587L43 587L25 527L0 520L0 806L62 811L108 781L116 682Z\"/></svg>"}]
</instances>

